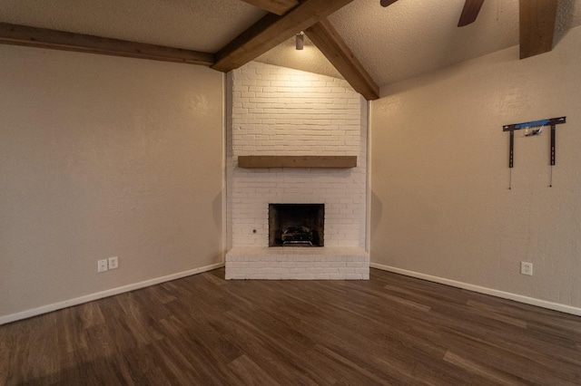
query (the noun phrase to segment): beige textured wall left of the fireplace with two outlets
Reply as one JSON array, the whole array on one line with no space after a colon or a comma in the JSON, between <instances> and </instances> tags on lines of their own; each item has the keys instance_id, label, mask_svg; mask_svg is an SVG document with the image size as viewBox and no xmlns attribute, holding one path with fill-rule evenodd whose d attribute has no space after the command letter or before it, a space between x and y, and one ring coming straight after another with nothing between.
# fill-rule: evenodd
<instances>
[{"instance_id":1,"label":"beige textured wall left of the fireplace with two outlets","mask_svg":"<svg viewBox=\"0 0 581 386\"><path fill-rule=\"evenodd\" d=\"M0 318L222 262L220 72L6 45L0 69Z\"/></svg>"}]
</instances>

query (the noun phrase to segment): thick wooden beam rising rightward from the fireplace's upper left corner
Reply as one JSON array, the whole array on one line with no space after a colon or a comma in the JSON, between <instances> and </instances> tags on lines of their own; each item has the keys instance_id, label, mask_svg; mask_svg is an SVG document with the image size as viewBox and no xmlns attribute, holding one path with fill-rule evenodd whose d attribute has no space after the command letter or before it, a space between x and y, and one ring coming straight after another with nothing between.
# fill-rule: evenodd
<instances>
[{"instance_id":1,"label":"thick wooden beam rising rightward from the fireplace's upper left corner","mask_svg":"<svg viewBox=\"0 0 581 386\"><path fill-rule=\"evenodd\" d=\"M251 62L352 0L304 0L283 16L267 14L216 53L214 70L229 72Z\"/></svg>"}]
</instances>

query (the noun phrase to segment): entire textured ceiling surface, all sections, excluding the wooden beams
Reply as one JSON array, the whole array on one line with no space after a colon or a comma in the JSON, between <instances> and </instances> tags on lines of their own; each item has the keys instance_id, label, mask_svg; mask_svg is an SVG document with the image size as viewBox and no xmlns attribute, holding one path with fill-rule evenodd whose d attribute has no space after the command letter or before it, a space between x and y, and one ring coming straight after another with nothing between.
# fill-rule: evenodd
<instances>
[{"instance_id":1,"label":"entire textured ceiling surface, all sections, excluding the wooden beams","mask_svg":"<svg viewBox=\"0 0 581 386\"><path fill-rule=\"evenodd\" d=\"M330 22L379 86L518 43L518 0L486 0L474 24L458 28L464 0L354 0ZM25 24L215 53L264 14L240 0L0 0L0 22ZM581 0L560 0L556 43L581 24ZM339 77L305 39L257 60Z\"/></svg>"}]
</instances>

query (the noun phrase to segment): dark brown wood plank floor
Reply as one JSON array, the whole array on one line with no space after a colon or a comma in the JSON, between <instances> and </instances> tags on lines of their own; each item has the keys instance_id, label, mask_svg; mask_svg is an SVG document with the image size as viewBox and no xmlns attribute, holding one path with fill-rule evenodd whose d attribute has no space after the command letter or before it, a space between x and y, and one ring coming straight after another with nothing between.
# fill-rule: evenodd
<instances>
[{"instance_id":1,"label":"dark brown wood plank floor","mask_svg":"<svg viewBox=\"0 0 581 386\"><path fill-rule=\"evenodd\" d=\"M0 384L581 384L581 317L374 269L223 277L2 325Z\"/></svg>"}]
</instances>

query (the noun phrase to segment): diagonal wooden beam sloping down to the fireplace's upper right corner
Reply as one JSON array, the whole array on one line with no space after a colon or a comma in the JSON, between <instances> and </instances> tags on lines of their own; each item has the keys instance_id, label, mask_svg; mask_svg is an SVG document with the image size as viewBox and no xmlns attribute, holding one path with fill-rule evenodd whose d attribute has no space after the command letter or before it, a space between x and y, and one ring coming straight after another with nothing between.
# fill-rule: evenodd
<instances>
[{"instance_id":1,"label":"diagonal wooden beam sloping down to the fireplace's upper right corner","mask_svg":"<svg viewBox=\"0 0 581 386\"><path fill-rule=\"evenodd\" d=\"M320 52L351 87L368 101L379 99L379 87L327 19L305 30Z\"/></svg>"}]
</instances>

